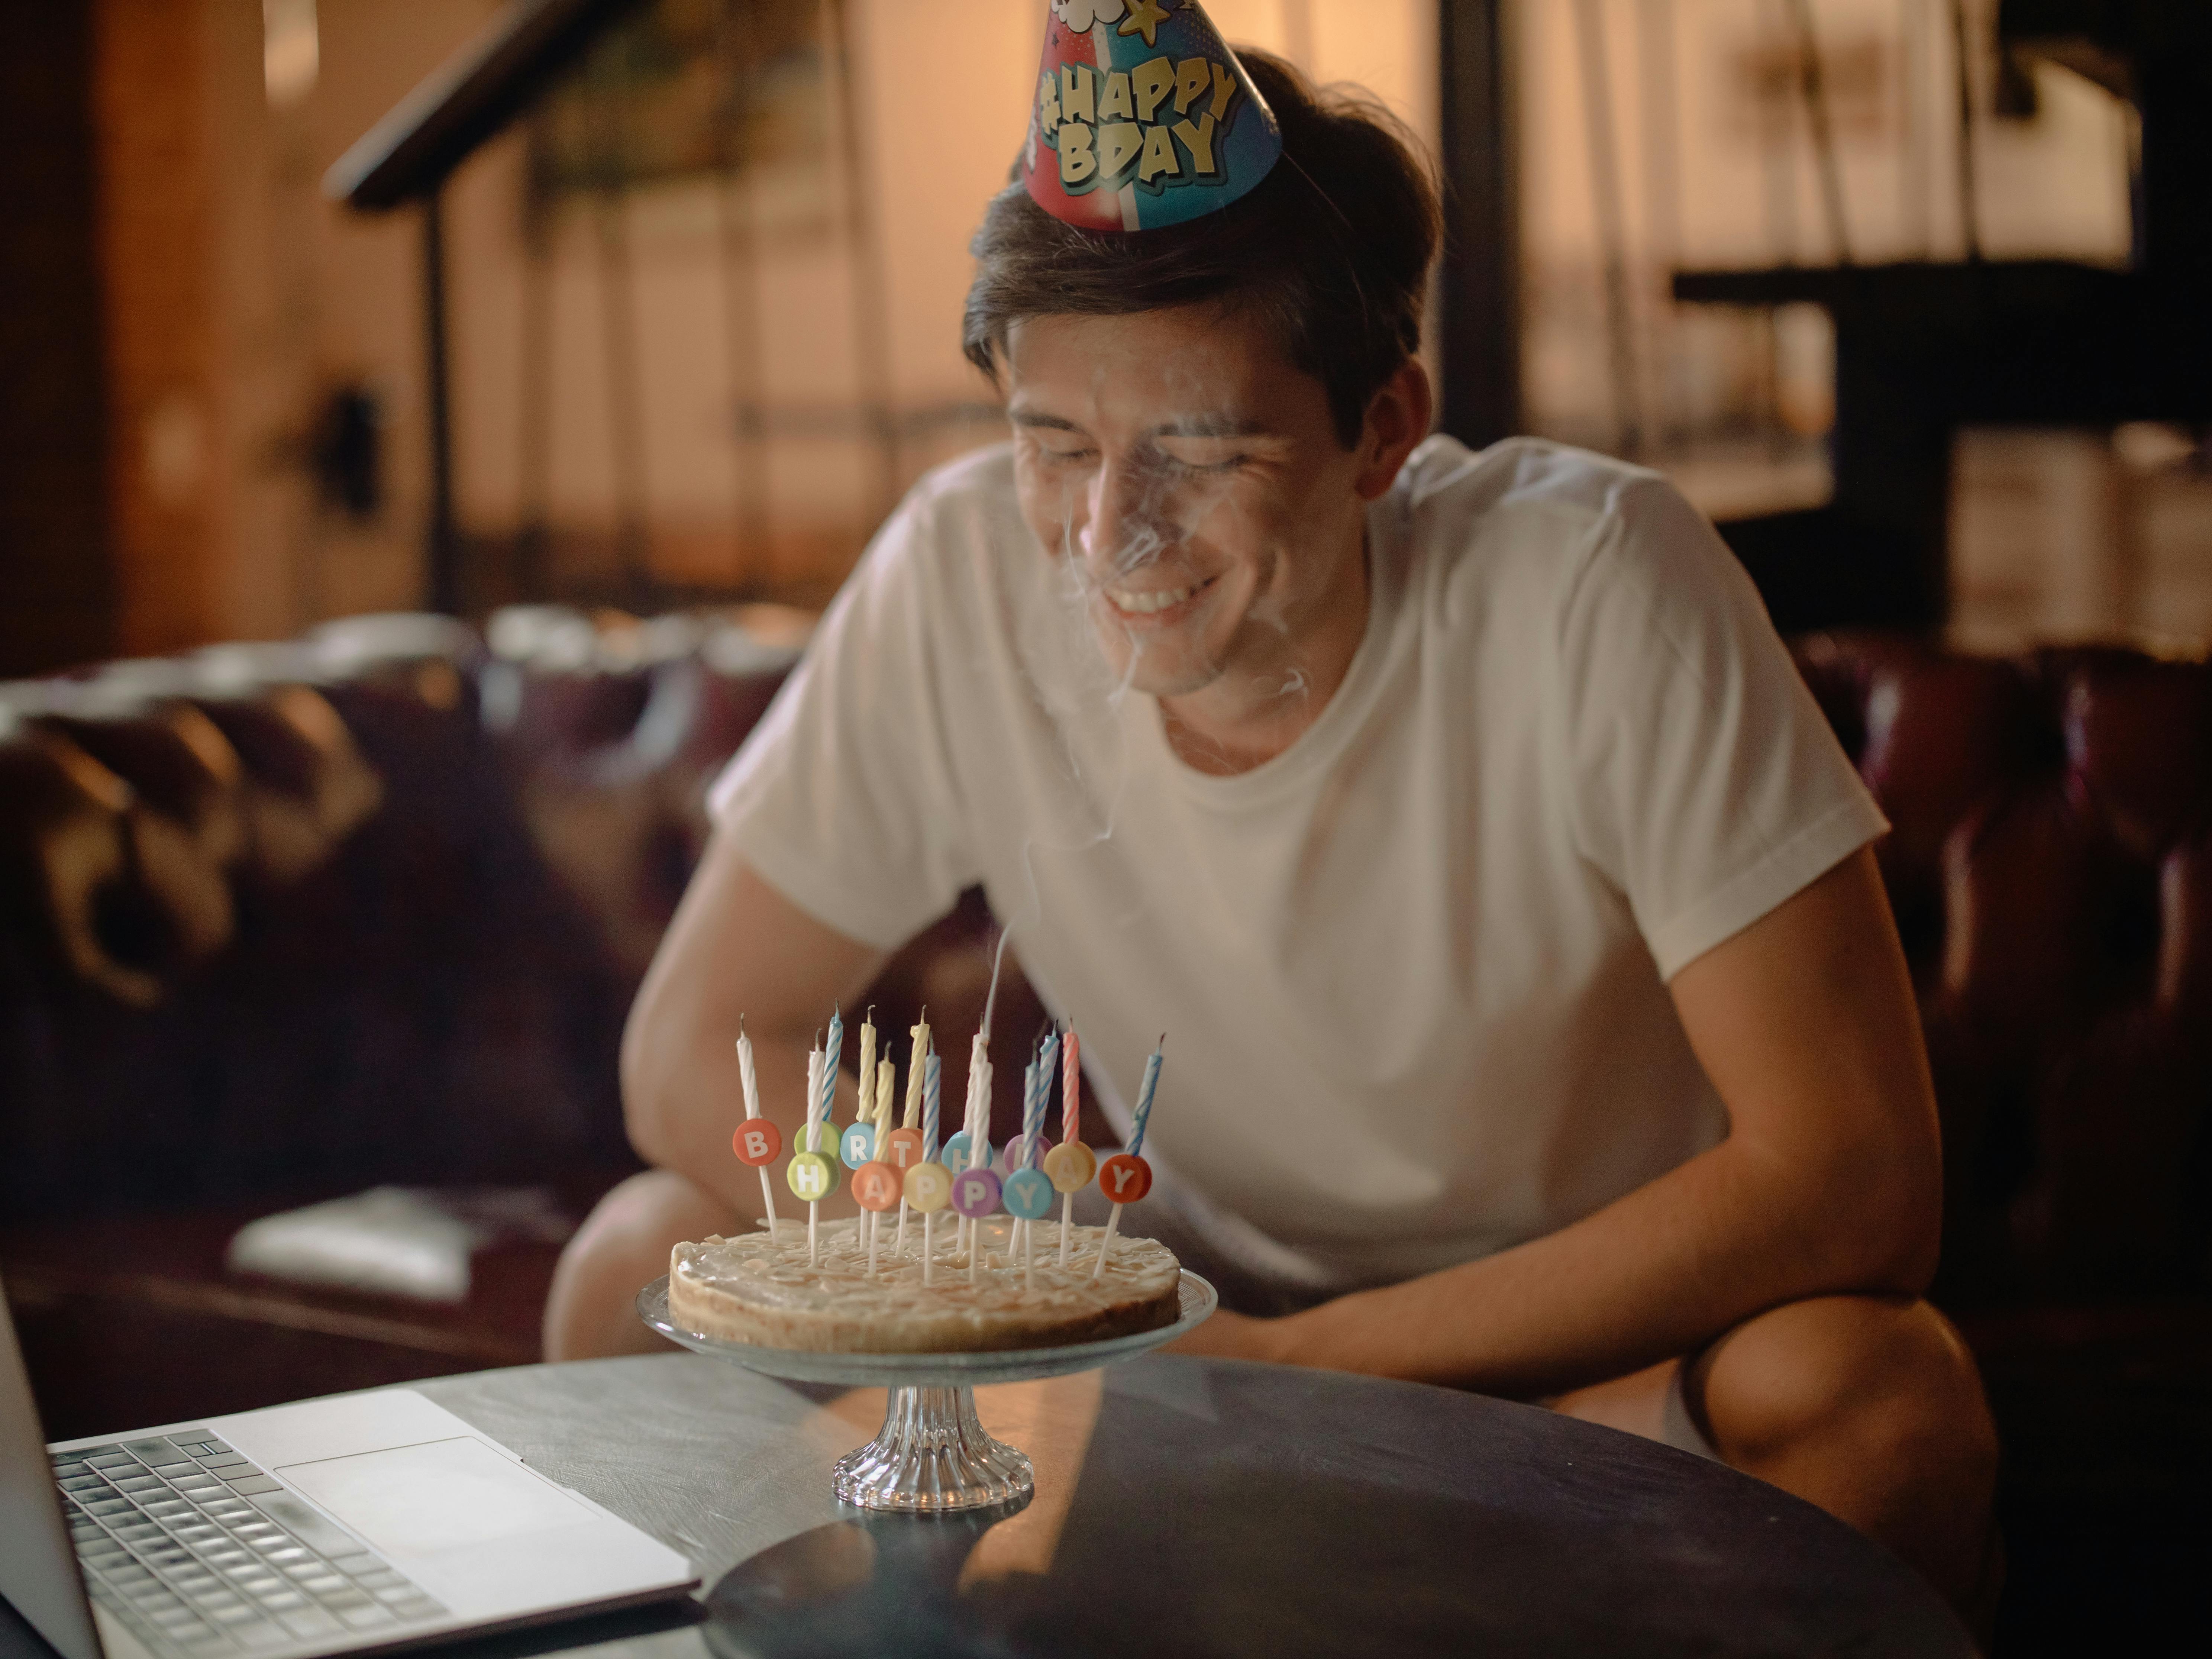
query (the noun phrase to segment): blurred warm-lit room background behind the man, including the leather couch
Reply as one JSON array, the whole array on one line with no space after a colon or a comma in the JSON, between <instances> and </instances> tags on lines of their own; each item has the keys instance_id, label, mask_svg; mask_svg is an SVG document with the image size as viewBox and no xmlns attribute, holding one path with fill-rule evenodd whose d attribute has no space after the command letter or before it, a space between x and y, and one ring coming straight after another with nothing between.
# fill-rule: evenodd
<instances>
[{"instance_id":1,"label":"blurred warm-lit room background behind the man, including the leather couch","mask_svg":"<svg viewBox=\"0 0 2212 1659\"><path fill-rule=\"evenodd\" d=\"M2201 1621L2212 9L1210 11L1436 159L1440 422L1670 473L1898 825L2002 1646ZM55 1436L535 1354L706 783L1000 434L958 319L1042 27L11 9L0 1272ZM973 1022L989 927L878 1018Z\"/></svg>"}]
</instances>

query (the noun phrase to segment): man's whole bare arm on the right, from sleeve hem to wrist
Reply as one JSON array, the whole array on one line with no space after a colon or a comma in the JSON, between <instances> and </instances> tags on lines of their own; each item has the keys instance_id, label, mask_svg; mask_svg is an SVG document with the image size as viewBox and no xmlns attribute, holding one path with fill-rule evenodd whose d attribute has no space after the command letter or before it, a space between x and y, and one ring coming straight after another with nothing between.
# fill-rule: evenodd
<instances>
[{"instance_id":1,"label":"man's whole bare arm on the right, from sleeve hem to wrist","mask_svg":"<svg viewBox=\"0 0 2212 1659\"><path fill-rule=\"evenodd\" d=\"M1942 1203L1936 1097L1874 854L1690 962L1672 995L1725 1141L1484 1261L1281 1321L1214 1318L1183 1347L1533 1398L1805 1296L1918 1296Z\"/></svg>"}]
</instances>

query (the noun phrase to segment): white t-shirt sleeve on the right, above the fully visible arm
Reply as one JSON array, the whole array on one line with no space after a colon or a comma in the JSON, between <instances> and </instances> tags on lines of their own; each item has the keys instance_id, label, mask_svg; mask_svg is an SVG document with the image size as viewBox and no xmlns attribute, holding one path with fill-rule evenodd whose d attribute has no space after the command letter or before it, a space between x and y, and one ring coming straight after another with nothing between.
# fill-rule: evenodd
<instances>
[{"instance_id":1,"label":"white t-shirt sleeve on the right, above the fully visible arm","mask_svg":"<svg viewBox=\"0 0 2212 1659\"><path fill-rule=\"evenodd\" d=\"M1599 520L1559 646L1577 841L1663 980L1887 832L1743 566L1663 480Z\"/></svg>"}]
</instances>

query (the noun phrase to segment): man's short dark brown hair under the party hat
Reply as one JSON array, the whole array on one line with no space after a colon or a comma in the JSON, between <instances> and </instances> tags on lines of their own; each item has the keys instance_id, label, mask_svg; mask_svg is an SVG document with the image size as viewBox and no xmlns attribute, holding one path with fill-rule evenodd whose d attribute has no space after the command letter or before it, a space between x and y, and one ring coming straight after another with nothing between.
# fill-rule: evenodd
<instances>
[{"instance_id":1,"label":"man's short dark brown hair under the party hat","mask_svg":"<svg viewBox=\"0 0 2212 1659\"><path fill-rule=\"evenodd\" d=\"M1442 228L1436 181L1374 100L1316 91L1252 46L1237 55L1283 128L1283 159L1267 177L1221 212L1133 232L1062 223L1015 179L969 243L978 270L960 345L995 380L1006 330L1029 316L1206 303L1256 314L1327 389L1349 449L1374 394L1420 349Z\"/></svg>"}]
</instances>

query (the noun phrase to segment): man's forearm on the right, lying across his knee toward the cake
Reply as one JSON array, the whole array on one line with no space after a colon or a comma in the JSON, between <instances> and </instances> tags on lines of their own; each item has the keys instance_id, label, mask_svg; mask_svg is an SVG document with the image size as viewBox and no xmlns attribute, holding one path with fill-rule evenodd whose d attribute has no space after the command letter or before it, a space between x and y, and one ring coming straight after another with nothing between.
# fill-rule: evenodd
<instances>
[{"instance_id":1,"label":"man's forearm on the right, lying across his knee toward the cake","mask_svg":"<svg viewBox=\"0 0 2212 1659\"><path fill-rule=\"evenodd\" d=\"M1825 1177L1723 1141L1571 1228L1252 1332L1267 1358L1537 1398L1688 1354L1752 1314L1924 1285L1874 1164Z\"/></svg>"}]
</instances>

